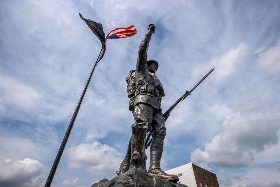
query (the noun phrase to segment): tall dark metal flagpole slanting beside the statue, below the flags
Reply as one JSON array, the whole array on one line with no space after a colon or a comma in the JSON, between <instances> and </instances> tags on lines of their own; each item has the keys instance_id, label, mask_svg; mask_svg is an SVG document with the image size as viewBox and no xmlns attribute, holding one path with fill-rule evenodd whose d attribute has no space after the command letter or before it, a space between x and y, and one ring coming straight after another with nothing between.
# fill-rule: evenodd
<instances>
[{"instance_id":1,"label":"tall dark metal flagpole slanting beside the statue, below the flags","mask_svg":"<svg viewBox=\"0 0 280 187\"><path fill-rule=\"evenodd\" d=\"M67 131L66 131L66 133L65 133L65 136L64 136L64 138L63 138L63 141L62 141L62 143L61 143L61 145L60 145L60 148L59 148L59 150L58 150L58 153L57 153L57 155L56 155L55 161L53 162L53 167L52 167L52 169L50 170L50 174L49 174L48 179L47 179L47 181L46 181L45 187L50 187L50 185L52 184L53 177L55 176L55 172L56 172L57 166L58 166L58 164L59 164L60 158L61 158L61 156L62 156L62 153L63 153L63 151L64 151L65 145L66 145L66 143L67 143L67 140L68 140L68 138L69 138L71 129L72 129L73 125L74 125L74 122L75 122L76 117L77 117L77 115L78 115L78 112L79 112L79 110L80 110L80 107L81 107L81 104L82 104L82 102L83 102L85 93L86 93L86 91L87 91L87 89L88 89L88 85L90 84L90 80L91 80L92 74L93 74L93 72L94 72L94 70L95 70L95 67L97 66L98 59L99 59L99 57L100 57L100 54L101 54L102 49L103 49L103 48L101 48L101 50L100 50L100 52L99 52L99 55L98 55L98 57L97 57L97 59L96 59L96 61L95 61L95 64L94 64L93 67L92 67L92 70L91 70L91 72L90 72L90 76L88 77L88 81L87 81L87 83L85 84L85 88L84 88L84 90L83 90L83 93L82 93L82 95L81 95L81 98L80 98L80 100L79 100L79 102L78 102L78 105L76 106L75 112L74 112L74 114L73 114L73 116L72 116L72 118L71 118L71 121L70 121L70 123L69 123L68 129L67 129Z\"/></svg>"}]
</instances>

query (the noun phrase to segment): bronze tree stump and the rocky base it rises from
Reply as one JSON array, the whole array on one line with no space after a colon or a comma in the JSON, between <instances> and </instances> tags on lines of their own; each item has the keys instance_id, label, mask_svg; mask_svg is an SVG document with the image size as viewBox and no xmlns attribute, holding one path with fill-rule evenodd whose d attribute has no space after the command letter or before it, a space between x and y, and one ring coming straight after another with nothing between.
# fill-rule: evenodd
<instances>
[{"instance_id":1,"label":"bronze tree stump and the rocky base it rises from","mask_svg":"<svg viewBox=\"0 0 280 187\"><path fill-rule=\"evenodd\" d=\"M132 125L131 159L127 172L116 176L111 181L102 179L91 187L188 187L148 175L146 169L145 136L149 124Z\"/></svg>"}]
</instances>

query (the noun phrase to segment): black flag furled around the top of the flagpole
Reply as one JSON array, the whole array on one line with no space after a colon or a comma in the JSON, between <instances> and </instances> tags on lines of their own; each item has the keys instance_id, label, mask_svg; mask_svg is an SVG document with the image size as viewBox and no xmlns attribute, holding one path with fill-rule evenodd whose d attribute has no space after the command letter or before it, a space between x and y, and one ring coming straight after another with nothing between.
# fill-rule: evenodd
<instances>
[{"instance_id":1,"label":"black flag furled around the top of the flagpole","mask_svg":"<svg viewBox=\"0 0 280 187\"><path fill-rule=\"evenodd\" d=\"M80 14L80 13L79 13ZM83 18L83 16L80 14L80 17L82 18L82 20L84 20L86 22L86 24L88 25L88 27L90 27L90 30L92 30L92 32L97 36L97 38L101 41L101 45L102 45L102 49L99 55L99 58L97 59L97 62L99 62L103 56L104 53L106 51L106 45L105 45L105 33L103 31L103 27L101 23L97 23L95 21L92 20L87 20L85 18Z\"/></svg>"}]
</instances>

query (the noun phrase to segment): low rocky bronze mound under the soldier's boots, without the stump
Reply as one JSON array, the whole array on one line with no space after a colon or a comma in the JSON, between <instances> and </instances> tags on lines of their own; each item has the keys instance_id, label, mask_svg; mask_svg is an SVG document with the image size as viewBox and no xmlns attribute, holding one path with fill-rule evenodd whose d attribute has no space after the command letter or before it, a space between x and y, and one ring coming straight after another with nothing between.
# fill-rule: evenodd
<instances>
[{"instance_id":1,"label":"low rocky bronze mound under the soldier's boots, without the stump","mask_svg":"<svg viewBox=\"0 0 280 187\"><path fill-rule=\"evenodd\" d=\"M116 176L111 181L102 179L91 187L188 187L181 183L173 183L148 175L143 169L130 167L127 172Z\"/></svg>"}]
</instances>

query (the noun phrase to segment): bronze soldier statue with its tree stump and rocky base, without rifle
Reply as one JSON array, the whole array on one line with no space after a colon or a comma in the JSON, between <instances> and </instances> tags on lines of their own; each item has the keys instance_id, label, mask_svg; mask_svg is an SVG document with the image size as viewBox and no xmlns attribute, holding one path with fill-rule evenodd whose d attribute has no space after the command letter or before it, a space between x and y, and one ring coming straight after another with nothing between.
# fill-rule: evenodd
<instances>
[{"instance_id":1,"label":"bronze soldier statue with its tree stump and rocky base, without rifle","mask_svg":"<svg viewBox=\"0 0 280 187\"><path fill-rule=\"evenodd\" d=\"M178 176L166 174L160 168L163 141L166 134L161 99L164 89L155 75L158 62L147 61L148 46L155 33L155 25L148 26L148 32L139 46L136 69L127 77L129 110L133 112L135 123L132 125L132 136L129 140L125 159L120 166L118 176L111 181L103 179L92 187L187 187L177 183ZM146 170L145 140L150 131L153 139L150 144L150 167Z\"/></svg>"}]
</instances>

